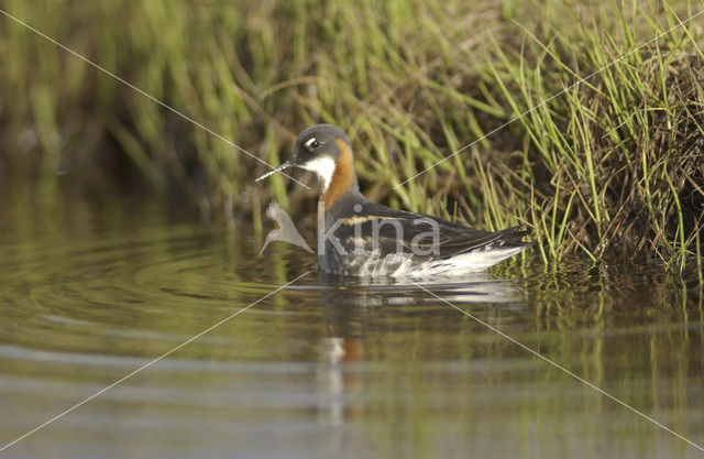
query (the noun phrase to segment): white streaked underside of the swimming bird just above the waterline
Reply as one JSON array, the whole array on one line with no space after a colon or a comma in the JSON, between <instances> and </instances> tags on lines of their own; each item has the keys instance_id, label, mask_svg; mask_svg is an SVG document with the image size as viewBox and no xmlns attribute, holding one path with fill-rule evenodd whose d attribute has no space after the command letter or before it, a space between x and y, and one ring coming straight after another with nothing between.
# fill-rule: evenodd
<instances>
[{"instance_id":1,"label":"white streaked underside of the swimming bird just above the waterline","mask_svg":"<svg viewBox=\"0 0 704 459\"><path fill-rule=\"evenodd\" d=\"M342 266L338 265L337 269L324 271L360 277L460 276L484 271L524 249L525 247L488 247L486 250L479 249L449 259L431 259L422 263L418 263L414 255L407 253L391 253L381 258L378 250L355 250L344 256Z\"/></svg>"}]
</instances>

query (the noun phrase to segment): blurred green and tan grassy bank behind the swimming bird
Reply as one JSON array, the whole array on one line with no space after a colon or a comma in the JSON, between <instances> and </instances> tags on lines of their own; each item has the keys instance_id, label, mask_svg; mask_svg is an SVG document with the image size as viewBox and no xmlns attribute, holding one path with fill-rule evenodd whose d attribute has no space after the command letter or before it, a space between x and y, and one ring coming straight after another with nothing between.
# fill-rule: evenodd
<instances>
[{"instance_id":1,"label":"blurred green and tan grassy bank behind the swimming bird","mask_svg":"<svg viewBox=\"0 0 704 459\"><path fill-rule=\"evenodd\" d=\"M299 130L331 122L353 140L372 199L488 229L527 222L546 261L701 271L704 15L630 53L700 2L3 4L272 164ZM255 220L270 198L315 208L280 176L254 185L265 166L25 28L0 18L0 157L13 179L136 176Z\"/></svg>"}]
</instances>

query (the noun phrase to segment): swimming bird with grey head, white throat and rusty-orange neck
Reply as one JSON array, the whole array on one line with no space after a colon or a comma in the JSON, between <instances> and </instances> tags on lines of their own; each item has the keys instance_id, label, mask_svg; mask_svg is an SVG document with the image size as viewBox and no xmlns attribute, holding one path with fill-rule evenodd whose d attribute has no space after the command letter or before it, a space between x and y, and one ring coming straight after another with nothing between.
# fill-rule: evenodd
<instances>
[{"instance_id":1,"label":"swimming bird with grey head, white throat and rusty-orange neck","mask_svg":"<svg viewBox=\"0 0 704 459\"><path fill-rule=\"evenodd\" d=\"M320 184L318 267L343 276L454 276L486 270L530 245L517 226L482 231L372 203L360 192L352 143L344 131L318 124L298 135L294 156L256 181L299 167Z\"/></svg>"}]
</instances>

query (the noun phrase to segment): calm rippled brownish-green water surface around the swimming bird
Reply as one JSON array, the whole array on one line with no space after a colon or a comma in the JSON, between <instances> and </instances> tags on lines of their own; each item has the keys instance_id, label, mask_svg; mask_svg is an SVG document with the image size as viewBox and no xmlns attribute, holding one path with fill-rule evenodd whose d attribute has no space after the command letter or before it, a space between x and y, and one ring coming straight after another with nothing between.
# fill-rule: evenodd
<instances>
[{"instance_id":1,"label":"calm rippled brownish-green water surface around the swimming bird","mask_svg":"<svg viewBox=\"0 0 704 459\"><path fill-rule=\"evenodd\" d=\"M142 197L4 196L0 447L315 264ZM696 278L526 266L442 300L311 271L0 457L701 457L490 328L704 445Z\"/></svg>"}]
</instances>

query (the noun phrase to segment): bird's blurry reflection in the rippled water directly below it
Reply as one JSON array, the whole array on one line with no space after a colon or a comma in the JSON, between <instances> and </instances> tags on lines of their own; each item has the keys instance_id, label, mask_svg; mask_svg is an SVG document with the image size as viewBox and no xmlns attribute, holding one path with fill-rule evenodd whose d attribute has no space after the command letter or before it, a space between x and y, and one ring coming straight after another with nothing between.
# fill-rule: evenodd
<instances>
[{"instance_id":1,"label":"bird's blurry reflection in the rippled water directly below it","mask_svg":"<svg viewBox=\"0 0 704 459\"><path fill-rule=\"evenodd\" d=\"M318 373L322 424L341 426L364 414L366 397L363 391L370 375L365 340L388 332L387 324L378 323L380 308L404 307L403 314L408 316L414 314L415 306L451 307L417 284L457 306L481 303L510 309L524 305L524 291L517 282L494 280L487 272L433 281L351 280L321 273L316 288L320 291L320 303L326 309L326 364ZM428 312L427 308L424 310ZM461 319L458 315L458 320Z\"/></svg>"}]
</instances>

